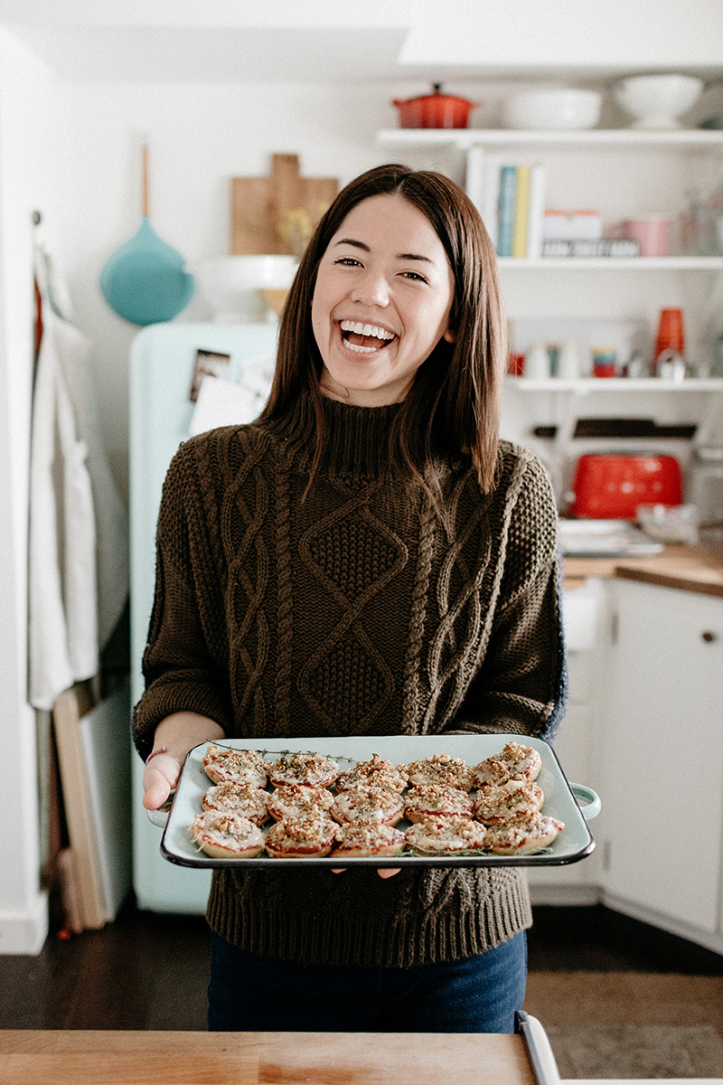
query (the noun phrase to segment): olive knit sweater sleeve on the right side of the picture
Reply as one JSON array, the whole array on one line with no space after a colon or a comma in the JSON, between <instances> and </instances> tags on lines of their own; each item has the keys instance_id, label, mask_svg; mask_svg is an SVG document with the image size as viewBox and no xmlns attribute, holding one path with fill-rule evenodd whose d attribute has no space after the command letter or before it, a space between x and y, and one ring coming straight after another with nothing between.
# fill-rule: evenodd
<instances>
[{"instance_id":1,"label":"olive knit sweater sleeve on the right side of the picture","mask_svg":"<svg viewBox=\"0 0 723 1085\"><path fill-rule=\"evenodd\" d=\"M501 590L477 673L448 733L554 737L567 705L557 512L528 456L506 532Z\"/></svg>"}]
</instances>

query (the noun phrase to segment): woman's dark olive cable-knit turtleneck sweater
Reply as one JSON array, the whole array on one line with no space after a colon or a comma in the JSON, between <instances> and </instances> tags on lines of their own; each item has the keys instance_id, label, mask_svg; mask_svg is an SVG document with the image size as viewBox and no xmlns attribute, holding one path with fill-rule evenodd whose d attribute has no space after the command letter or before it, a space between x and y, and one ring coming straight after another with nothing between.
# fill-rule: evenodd
<instances>
[{"instance_id":1,"label":"woman's dark olive cable-knit turtleneck sweater","mask_svg":"<svg viewBox=\"0 0 723 1085\"><path fill-rule=\"evenodd\" d=\"M181 710L230 738L552 737L566 672L547 476L502 443L498 486L482 497L468 461L441 461L443 526L421 487L389 478L398 409L325 401L328 446L305 500L307 397L281 422L181 446L158 520L141 755ZM410 966L482 953L531 912L508 867L382 879L270 865L215 871L208 919L251 953Z\"/></svg>"}]
</instances>

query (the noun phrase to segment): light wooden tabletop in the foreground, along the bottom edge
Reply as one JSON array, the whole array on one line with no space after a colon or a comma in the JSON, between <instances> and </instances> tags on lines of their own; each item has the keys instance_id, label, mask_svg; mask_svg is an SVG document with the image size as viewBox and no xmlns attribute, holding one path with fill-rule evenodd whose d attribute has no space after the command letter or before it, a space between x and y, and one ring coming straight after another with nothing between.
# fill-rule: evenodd
<instances>
[{"instance_id":1,"label":"light wooden tabletop in the foreground, along the bottom edge","mask_svg":"<svg viewBox=\"0 0 723 1085\"><path fill-rule=\"evenodd\" d=\"M2 1085L533 1085L520 1036L0 1031Z\"/></svg>"}]
</instances>

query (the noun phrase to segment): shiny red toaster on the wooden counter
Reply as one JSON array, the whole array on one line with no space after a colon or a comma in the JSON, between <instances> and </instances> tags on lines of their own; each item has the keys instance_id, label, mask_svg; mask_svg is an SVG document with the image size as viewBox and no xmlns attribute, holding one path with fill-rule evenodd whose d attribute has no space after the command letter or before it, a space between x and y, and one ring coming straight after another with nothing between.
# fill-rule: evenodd
<instances>
[{"instance_id":1,"label":"shiny red toaster on the wooden counter","mask_svg":"<svg viewBox=\"0 0 723 1085\"><path fill-rule=\"evenodd\" d=\"M638 505L680 505L681 465L674 456L592 452L578 460L570 515L635 520Z\"/></svg>"}]
</instances>

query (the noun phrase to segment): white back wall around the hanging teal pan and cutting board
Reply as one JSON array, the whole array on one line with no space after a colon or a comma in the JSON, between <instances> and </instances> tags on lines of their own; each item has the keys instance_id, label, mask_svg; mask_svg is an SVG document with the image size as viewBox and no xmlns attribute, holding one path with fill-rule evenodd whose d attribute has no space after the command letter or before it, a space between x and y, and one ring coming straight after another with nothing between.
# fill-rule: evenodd
<instances>
[{"instance_id":1,"label":"white back wall around the hanging teal pan and cutting board","mask_svg":"<svg viewBox=\"0 0 723 1085\"><path fill-rule=\"evenodd\" d=\"M63 255L83 331L98 345L107 450L120 486L127 473L127 362L138 329L105 304L104 260L137 230L140 148L149 139L151 221L191 269L229 252L230 179L269 173L273 152L299 154L301 173L341 183L387 161L375 131L396 123L399 88L293 84L62 86L68 173ZM405 88L409 97L418 85ZM196 296L181 320L207 319Z\"/></svg>"}]
</instances>

